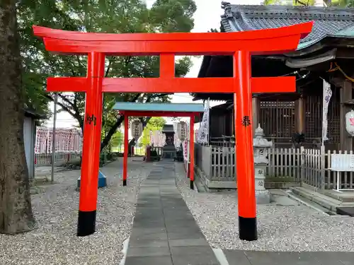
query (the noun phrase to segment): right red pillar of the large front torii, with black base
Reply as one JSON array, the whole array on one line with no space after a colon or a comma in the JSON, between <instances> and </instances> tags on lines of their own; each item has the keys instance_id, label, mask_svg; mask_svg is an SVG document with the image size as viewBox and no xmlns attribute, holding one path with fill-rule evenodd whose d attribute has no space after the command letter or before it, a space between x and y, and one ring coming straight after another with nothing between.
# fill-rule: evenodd
<instances>
[{"instance_id":1,"label":"right red pillar of the large front torii, with black base","mask_svg":"<svg viewBox=\"0 0 354 265\"><path fill-rule=\"evenodd\" d=\"M239 238L257 240L256 192L252 139L251 54L234 54L234 108Z\"/></svg>"}]
</instances>

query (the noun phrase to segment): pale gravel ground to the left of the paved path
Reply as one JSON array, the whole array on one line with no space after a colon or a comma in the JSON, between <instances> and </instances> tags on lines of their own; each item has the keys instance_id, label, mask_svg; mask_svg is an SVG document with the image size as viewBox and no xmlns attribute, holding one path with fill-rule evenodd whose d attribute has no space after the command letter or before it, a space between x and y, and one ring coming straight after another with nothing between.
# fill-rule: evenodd
<instances>
[{"instance_id":1,"label":"pale gravel ground to the left of the paved path","mask_svg":"<svg viewBox=\"0 0 354 265\"><path fill-rule=\"evenodd\" d=\"M98 191L97 232L88 237L76 237L80 171L57 172L57 184L41 186L32 196L38 228L22 235L0 235L0 264L118 265L122 243L130 235L139 184L152 165L130 160L128 187L121 186L121 158L101 169L108 187Z\"/></svg>"}]
</instances>

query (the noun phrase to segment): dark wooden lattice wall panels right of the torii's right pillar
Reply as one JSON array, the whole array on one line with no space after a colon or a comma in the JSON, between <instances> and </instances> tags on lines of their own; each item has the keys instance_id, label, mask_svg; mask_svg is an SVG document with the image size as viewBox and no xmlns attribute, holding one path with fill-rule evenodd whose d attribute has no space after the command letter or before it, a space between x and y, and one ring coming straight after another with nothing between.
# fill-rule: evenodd
<instances>
[{"instance_id":1,"label":"dark wooden lattice wall panels right of the torii's right pillar","mask_svg":"<svg viewBox=\"0 0 354 265\"><path fill-rule=\"evenodd\" d=\"M325 143L335 150L339 143L340 104L336 90L329 102L328 133ZM322 137L322 95L304 96L304 136L307 146L319 146ZM260 123L266 138L281 146L292 146L292 136L297 133L295 101L261 101Z\"/></svg>"}]
</instances>

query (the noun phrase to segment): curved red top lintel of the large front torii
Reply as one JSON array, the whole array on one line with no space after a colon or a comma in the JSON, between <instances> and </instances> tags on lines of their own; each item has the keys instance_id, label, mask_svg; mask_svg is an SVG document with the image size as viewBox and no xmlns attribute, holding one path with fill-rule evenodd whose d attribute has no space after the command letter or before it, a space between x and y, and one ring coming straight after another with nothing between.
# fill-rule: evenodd
<instances>
[{"instance_id":1,"label":"curved red top lintel of the large front torii","mask_svg":"<svg viewBox=\"0 0 354 265\"><path fill-rule=\"evenodd\" d=\"M247 50L252 54L292 51L313 22L240 33L79 33L33 26L50 52L112 55L212 55Z\"/></svg>"}]
</instances>

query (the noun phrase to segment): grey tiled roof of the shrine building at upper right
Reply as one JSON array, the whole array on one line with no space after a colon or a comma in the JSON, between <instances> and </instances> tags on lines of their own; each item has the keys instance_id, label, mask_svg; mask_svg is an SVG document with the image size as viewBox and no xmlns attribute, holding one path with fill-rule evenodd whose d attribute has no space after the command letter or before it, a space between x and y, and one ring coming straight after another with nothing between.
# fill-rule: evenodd
<instances>
[{"instance_id":1,"label":"grey tiled roof of the shrine building at upper right","mask_svg":"<svg viewBox=\"0 0 354 265\"><path fill-rule=\"evenodd\" d=\"M354 38L354 8L316 6L241 6L222 2L222 27L226 32L280 28L314 21L312 33L299 42L304 49L325 37Z\"/></svg>"}]
</instances>

